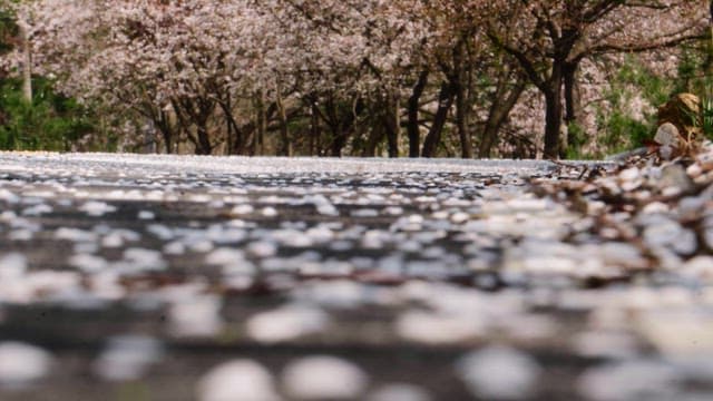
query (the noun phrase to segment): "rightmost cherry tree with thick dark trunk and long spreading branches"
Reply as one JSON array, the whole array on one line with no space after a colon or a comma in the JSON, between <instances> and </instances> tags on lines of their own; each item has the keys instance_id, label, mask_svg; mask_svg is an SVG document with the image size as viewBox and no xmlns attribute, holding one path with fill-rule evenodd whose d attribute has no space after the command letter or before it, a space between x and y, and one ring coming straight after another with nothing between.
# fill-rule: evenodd
<instances>
[{"instance_id":1,"label":"rightmost cherry tree with thick dark trunk and long spreading branches","mask_svg":"<svg viewBox=\"0 0 713 401\"><path fill-rule=\"evenodd\" d=\"M574 118L574 79L583 59L645 51L699 38L703 1L504 0L491 3L489 36L515 57L546 102L545 157L560 155L564 114Z\"/></svg>"}]
</instances>

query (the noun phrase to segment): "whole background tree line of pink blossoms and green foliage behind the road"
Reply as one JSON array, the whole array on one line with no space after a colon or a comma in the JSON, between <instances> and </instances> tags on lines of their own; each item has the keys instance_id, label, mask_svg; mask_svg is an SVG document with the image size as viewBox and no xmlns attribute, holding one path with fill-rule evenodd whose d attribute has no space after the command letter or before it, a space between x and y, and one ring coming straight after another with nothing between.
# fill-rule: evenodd
<instances>
[{"instance_id":1,"label":"whole background tree line of pink blossoms and green foliage behind the road","mask_svg":"<svg viewBox=\"0 0 713 401\"><path fill-rule=\"evenodd\" d=\"M705 87L709 6L0 0L0 147L597 157Z\"/></svg>"}]
</instances>

